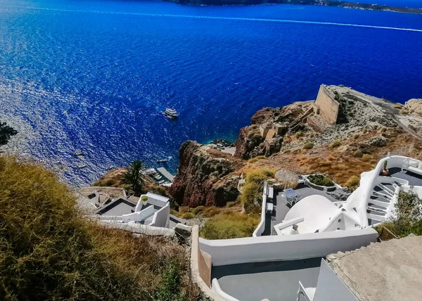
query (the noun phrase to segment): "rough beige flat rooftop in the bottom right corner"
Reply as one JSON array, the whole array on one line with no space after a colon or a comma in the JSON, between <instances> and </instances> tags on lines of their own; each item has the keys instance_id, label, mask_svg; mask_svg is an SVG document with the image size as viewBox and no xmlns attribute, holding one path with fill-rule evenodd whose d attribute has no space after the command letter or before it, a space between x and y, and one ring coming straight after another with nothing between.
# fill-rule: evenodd
<instances>
[{"instance_id":1,"label":"rough beige flat rooftop in the bottom right corner","mask_svg":"<svg viewBox=\"0 0 422 301\"><path fill-rule=\"evenodd\" d=\"M359 301L422 300L422 236L373 243L327 260Z\"/></svg>"}]
</instances>

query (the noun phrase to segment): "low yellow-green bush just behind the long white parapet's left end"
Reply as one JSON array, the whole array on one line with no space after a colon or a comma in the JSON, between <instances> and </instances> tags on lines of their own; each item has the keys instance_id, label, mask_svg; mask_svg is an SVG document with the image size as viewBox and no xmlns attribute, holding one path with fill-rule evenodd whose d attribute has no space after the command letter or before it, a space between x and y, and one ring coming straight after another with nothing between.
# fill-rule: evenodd
<instances>
[{"instance_id":1,"label":"low yellow-green bush just behind the long white parapet's left end","mask_svg":"<svg viewBox=\"0 0 422 301\"><path fill-rule=\"evenodd\" d=\"M220 213L205 222L200 236L207 239L250 237L259 223L258 214Z\"/></svg>"}]
</instances>

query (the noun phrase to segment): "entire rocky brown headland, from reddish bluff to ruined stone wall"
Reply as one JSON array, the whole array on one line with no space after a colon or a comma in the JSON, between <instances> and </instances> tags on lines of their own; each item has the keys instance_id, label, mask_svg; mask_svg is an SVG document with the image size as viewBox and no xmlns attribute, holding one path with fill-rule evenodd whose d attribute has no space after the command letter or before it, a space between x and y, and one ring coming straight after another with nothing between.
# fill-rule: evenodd
<instances>
[{"instance_id":1,"label":"entire rocky brown headland, from reddish bluff to ruined stone wall","mask_svg":"<svg viewBox=\"0 0 422 301\"><path fill-rule=\"evenodd\" d=\"M388 152L421 158L419 101L403 106L347 87L327 89L338 101L337 124L324 122L315 101L303 101L255 113L251 125L239 132L234 156L186 141L170 188L177 203L223 206L236 200L239 175L252 169L324 172L338 184L354 186L359 181L350 184L350 179L358 179ZM286 130L274 135L265 124L279 124Z\"/></svg>"}]
</instances>

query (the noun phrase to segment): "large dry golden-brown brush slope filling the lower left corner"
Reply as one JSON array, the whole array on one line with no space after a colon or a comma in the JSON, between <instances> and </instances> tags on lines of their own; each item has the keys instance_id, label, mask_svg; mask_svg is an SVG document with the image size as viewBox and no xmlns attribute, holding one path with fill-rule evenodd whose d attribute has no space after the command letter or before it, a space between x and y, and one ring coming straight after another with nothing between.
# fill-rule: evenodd
<instances>
[{"instance_id":1,"label":"large dry golden-brown brush slope filling the lower left corner","mask_svg":"<svg viewBox=\"0 0 422 301\"><path fill-rule=\"evenodd\" d=\"M51 172L0 158L0 300L197 300L184 251L85 219Z\"/></svg>"}]
</instances>

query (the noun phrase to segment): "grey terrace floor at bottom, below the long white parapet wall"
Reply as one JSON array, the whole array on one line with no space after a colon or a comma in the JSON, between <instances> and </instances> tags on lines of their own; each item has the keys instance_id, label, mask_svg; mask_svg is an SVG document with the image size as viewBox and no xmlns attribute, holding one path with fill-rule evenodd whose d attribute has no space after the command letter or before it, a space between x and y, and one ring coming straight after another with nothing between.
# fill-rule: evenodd
<instances>
[{"instance_id":1,"label":"grey terrace floor at bottom, below the long white parapet wall","mask_svg":"<svg viewBox=\"0 0 422 301\"><path fill-rule=\"evenodd\" d=\"M321 257L307 260L256 262L212 267L224 293L241 301L296 300L299 281L316 287Z\"/></svg>"}]
</instances>

